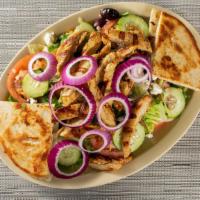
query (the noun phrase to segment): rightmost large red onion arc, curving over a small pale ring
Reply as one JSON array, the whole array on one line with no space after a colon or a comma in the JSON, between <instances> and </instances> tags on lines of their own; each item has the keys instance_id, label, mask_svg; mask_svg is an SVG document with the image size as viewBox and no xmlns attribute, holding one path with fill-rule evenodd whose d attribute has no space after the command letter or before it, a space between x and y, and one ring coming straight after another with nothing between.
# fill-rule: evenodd
<instances>
[{"instance_id":1,"label":"rightmost large red onion arc, curving over a small pale ring","mask_svg":"<svg viewBox=\"0 0 200 200\"><path fill-rule=\"evenodd\" d=\"M149 85L151 82L151 72L150 69L147 67L146 63L143 62L140 59L132 59L128 60L124 63L122 63L115 71L113 79L112 79L112 89L115 92L121 92L120 91L120 81L122 77L127 73L130 72L132 69L134 69L137 66L143 66L148 73L148 78L149 78Z\"/></svg>"}]
</instances>

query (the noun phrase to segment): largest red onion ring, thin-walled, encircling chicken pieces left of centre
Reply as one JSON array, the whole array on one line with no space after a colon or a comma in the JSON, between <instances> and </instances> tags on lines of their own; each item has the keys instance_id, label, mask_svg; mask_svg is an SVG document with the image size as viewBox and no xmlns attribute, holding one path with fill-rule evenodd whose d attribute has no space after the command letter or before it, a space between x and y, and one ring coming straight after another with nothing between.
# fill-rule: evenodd
<instances>
[{"instance_id":1,"label":"largest red onion ring, thin-walled, encircling chicken pieces left of centre","mask_svg":"<svg viewBox=\"0 0 200 200\"><path fill-rule=\"evenodd\" d=\"M77 122L75 124L66 124L64 123L63 121L61 121L55 114L54 112L54 108L52 106L52 98L53 98L53 95L54 93L57 91L57 90L60 90L60 89L63 89L63 88L69 88L69 89L73 89L73 90L76 90L78 91L84 98L85 100L87 101L88 103L88 106L89 106L89 112L87 114L87 117L82 121L80 122L79 124L77 124ZM85 87L83 86L71 86L71 85L64 85L62 82L59 82L57 84L55 84L53 86L53 88L51 89L50 91L50 94L49 94L49 106L51 108L51 112L54 116L54 118L60 123L62 124L63 126L67 126L67 127L71 127L71 128L74 128L74 127L80 127L80 126L83 126L87 123L89 123L90 121L92 121L93 117L95 116L95 112L96 112L96 102L95 102L95 99L94 99L94 96L91 94L91 92L86 89Z\"/></svg>"}]
</instances>

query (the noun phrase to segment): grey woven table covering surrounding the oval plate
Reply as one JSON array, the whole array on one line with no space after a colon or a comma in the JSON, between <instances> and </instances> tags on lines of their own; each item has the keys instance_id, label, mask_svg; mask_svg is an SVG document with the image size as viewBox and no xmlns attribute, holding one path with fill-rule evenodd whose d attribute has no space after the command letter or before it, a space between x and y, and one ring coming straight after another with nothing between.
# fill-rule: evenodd
<instances>
[{"instance_id":1,"label":"grey woven table covering surrounding the oval plate","mask_svg":"<svg viewBox=\"0 0 200 200\"><path fill-rule=\"evenodd\" d=\"M117 0L114 0L115 2ZM36 33L101 0L0 0L0 70ZM145 1L172 9L200 32L200 0ZM0 199L200 199L200 118L165 156L113 184L84 190L41 187L15 175L0 161Z\"/></svg>"}]
</instances>

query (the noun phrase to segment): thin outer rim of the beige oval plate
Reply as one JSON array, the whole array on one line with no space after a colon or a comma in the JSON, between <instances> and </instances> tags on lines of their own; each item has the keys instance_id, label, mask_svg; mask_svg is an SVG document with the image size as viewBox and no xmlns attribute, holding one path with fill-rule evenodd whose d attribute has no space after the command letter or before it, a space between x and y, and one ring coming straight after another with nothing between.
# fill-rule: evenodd
<instances>
[{"instance_id":1,"label":"thin outer rim of the beige oval plate","mask_svg":"<svg viewBox=\"0 0 200 200\"><path fill-rule=\"evenodd\" d=\"M107 7L107 6L115 6L115 5L120 5L120 4L138 4L138 5L141 5L141 6L148 6L150 7L151 9L152 8L157 8L157 9L160 9L160 10L163 10L175 17L177 17L178 19L180 19L184 24L187 23L187 26L189 26L189 30L192 32L192 35L195 37L196 39L196 35L199 37L200 39L200 35L198 34L197 30L190 24L190 22L188 22L186 19L184 19L182 16L176 14L175 12L173 12L172 10L170 9L167 9L167 8L164 8L164 7L161 7L161 6L158 6L158 5L154 5L154 4L149 4L149 3L145 3L145 2L112 2L112 3L107 3L107 4L99 4L99 5L95 5L95 6L92 6L92 7L89 7L89 8L84 8L84 9L81 9L77 12L74 12L68 16L65 16L59 20L57 20L56 22L54 22L53 24L47 26L46 28L44 28L42 31L40 31L39 33L37 33L34 37L32 37L30 40L28 40L24 46L22 48L20 48L20 50L17 51L17 53L15 54L15 56L11 59L11 61L8 63L8 65L5 67L4 71L1 73L1 76L0 76L0 82L2 81L2 78L4 76L6 76L9 68L11 68L11 66L13 66L13 64L17 61L17 58L18 56L20 56L22 54L22 52L27 48L27 45L29 43L31 43L32 41L34 41L35 39L37 39L40 35L42 35L43 33L45 33L47 30L53 28L56 24L62 22L62 21L65 21L66 19L70 18L70 17L73 17L75 15L81 15L81 13L83 12L87 12L87 11L90 11L90 10L93 10L93 9L97 9L97 8L102 8L102 7ZM195 35L194 35L195 33ZM196 41L197 42L197 41ZM199 43L197 43L198 46L200 45ZM199 95L200 94L198 92L194 92L194 94L196 95ZM146 168L147 166L151 165L153 162L155 162L156 160L158 160L159 158L161 158L164 154L166 154L185 134L186 132L188 131L188 129L191 127L191 125L193 124L193 122L195 121L198 113L200 111L200 108L198 108L198 111L195 113L194 116L192 116L192 119L190 121L190 123L188 123L187 127L184 129L184 131L182 132L182 134L180 134L179 137L177 137L175 140L173 140L173 142L171 142L167 148L165 148L165 150L162 151L162 153L160 153L159 155L155 156L154 158L151 159L151 161L147 162L145 165L143 165L142 167L138 168L137 170L135 170L134 172L132 173L127 173L126 175L119 175L119 176L114 176L112 177L112 179L109 179L109 180L106 180L106 183L105 182L95 182L95 184L90 184L89 186L88 185L83 185L80 187L80 185L78 187L74 186L73 187L69 187L68 185L66 186L63 186L62 187L59 187L59 185L54 185L54 184L51 184L51 182L45 182L45 181L41 181L40 179L37 179L37 178L33 178L31 176L25 176L23 173L18 173L16 172L17 170L13 170L13 168L11 166L9 166L9 164L7 163L7 161L5 161L4 159L1 159L2 162L10 169L12 170L16 175L24 178L25 180L28 180L30 181L31 183L36 183L38 185L41 185L41 186L46 186L46 187L49 187L49 188L57 188L57 189L83 189L83 188L92 188L92 187L97 187L97 186L102 186L102 185L105 185L105 184L109 184L109 183L112 183L112 182L116 182L122 178L125 178L125 177L128 177L130 175L133 175L133 174L136 174L137 172L143 170L144 168ZM153 147L152 147L153 148ZM0 150L1 151L1 150ZM148 152L149 150L147 150ZM146 152L145 152L146 153Z\"/></svg>"}]
</instances>

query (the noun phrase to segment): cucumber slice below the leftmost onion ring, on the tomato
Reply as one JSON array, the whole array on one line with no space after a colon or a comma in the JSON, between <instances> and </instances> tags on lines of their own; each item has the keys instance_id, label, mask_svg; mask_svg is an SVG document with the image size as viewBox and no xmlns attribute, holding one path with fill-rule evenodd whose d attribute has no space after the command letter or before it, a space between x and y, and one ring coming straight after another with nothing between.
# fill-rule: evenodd
<instances>
[{"instance_id":1,"label":"cucumber slice below the leftmost onion ring, on the tomato","mask_svg":"<svg viewBox=\"0 0 200 200\"><path fill-rule=\"evenodd\" d=\"M22 90L29 98L42 97L48 92L49 82L39 82L34 80L29 74L26 74L22 80Z\"/></svg>"}]
</instances>

